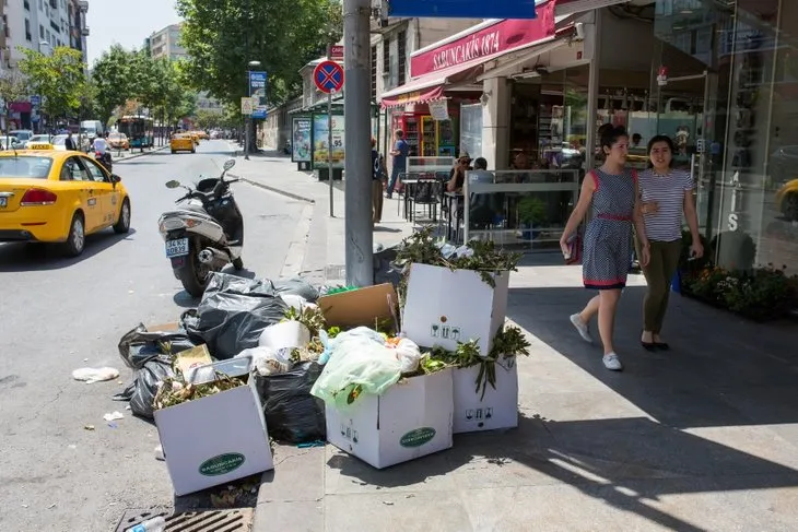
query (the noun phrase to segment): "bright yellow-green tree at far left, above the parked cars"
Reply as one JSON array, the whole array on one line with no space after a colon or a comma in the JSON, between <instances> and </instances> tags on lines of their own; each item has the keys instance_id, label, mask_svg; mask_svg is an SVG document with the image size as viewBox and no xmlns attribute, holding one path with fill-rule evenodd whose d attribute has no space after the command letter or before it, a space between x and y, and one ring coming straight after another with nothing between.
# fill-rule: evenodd
<instances>
[{"instance_id":1,"label":"bright yellow-green tree at far left, above the parked cars","mask_svg":"<svg viewBox=\"0 0 798 532\"><path fill-rule=\"evenodd\" d=\"M42 96L42 109L50 119L71 116L80 108L86 83L83 57L67 46L54 48L47 56L28 48L17 48L25 57L20 71L27 76L34 94Z\"/></svg>"}]
</instances>

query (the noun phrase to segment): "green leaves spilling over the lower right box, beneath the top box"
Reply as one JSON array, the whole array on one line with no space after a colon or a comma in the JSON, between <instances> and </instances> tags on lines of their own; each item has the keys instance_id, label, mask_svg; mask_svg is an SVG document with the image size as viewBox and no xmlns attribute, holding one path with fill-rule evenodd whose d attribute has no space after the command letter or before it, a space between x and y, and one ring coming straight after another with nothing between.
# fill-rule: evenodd
<instances>
[{"instance_id":1,"label":"green leaves spilling over the lower right box, beneath the top box","mask_svg":"<svg viewBox=\"0 0 798 532\"><path fill-rule=\"evenodd\" d=\"M524 332L514 326L505 327L503 331L496 333L488 356L480 354L478 342L479 340L458 342L454 352L435 346L421 358L420 369L424 374L433 374L447 367L468 368L479 365L474 392L481 391L480 400L482 400L488 385L496 389L496 363L502 365L502 360L512 362L509 359L518 355L529 356L531 344Z\"/></svg>"}]
</instances>

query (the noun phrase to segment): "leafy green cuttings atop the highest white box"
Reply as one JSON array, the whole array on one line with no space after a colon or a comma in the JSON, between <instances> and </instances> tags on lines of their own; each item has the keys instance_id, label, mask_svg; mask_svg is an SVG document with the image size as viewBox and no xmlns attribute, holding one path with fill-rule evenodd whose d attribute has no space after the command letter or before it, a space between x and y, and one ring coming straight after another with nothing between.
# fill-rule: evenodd
<instances>
[{"instance_id":1,"label":"leafy green cuttings atop the highest white box","mask_svg":"<svg viewBox=\"0 0 798 532\"><path fill-rule=\"evenodd\" d=\"M468 247L473 251L470 257L444 258L438 245L444 239L433 237L433 226L426 226L413 233L404 240L397 251L396 263L404 265L410 263L430 264L449 270L472 270L479 272L482 281L494 287L496 285L494 275L505 271L517 271L521 253L507 252L496 247L493 240L471 240ZM407 288L407 274L402 276L399 285L400 296L403 297Z\"/></svg>"}]
</instances>

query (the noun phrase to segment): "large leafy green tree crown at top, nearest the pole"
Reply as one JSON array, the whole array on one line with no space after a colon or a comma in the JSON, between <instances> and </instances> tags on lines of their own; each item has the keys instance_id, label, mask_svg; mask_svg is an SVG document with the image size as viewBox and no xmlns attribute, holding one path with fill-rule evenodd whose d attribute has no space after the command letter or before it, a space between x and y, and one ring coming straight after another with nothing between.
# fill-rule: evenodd
<instances>
[{"instance_id":1,"label":"large leafy green tree crown at top, nearest the pole","mask_svg":"<svg viewBox=\"0 0 798 532\"><path fill-rule=\"evenodd\" d=\"M338 0L177 0L177 10L189 81L228 103L247 94L253 60L269 73L269 103L296 94L298 70L322 56L343 27Z\"/></svg>"}]
</instances>

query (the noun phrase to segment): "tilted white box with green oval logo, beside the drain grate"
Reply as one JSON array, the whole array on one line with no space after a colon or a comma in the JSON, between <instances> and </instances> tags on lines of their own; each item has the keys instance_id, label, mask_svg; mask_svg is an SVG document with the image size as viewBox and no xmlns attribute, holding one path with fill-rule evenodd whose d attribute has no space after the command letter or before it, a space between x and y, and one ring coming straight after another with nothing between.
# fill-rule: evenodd
<instances>
[{"instance_id":1,"label":"tilted white box with green oval logo, beside the drain grate","mask_svg":"<svg viewBox=\"0 0 798 532\"><path fill-rule=\"evenodd\" d=\"M175 495L273 469L255 379L246 386L155 411Z\"/></svg>"}]
</instances>

